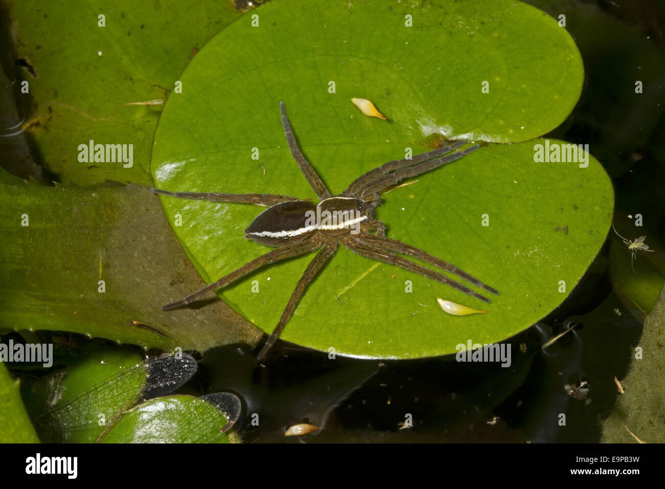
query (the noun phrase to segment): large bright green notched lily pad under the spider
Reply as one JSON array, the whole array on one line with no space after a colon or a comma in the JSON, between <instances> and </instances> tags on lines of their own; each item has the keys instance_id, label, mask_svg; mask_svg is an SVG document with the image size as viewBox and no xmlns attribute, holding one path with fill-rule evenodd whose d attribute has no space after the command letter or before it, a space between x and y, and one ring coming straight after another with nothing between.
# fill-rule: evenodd
<instances>
[{"instance_id":1,"label":"large bright green notched lily pad under the spider","mask_svg":"<svg viewBox=\"0 0 665 489\"><path fill-rule=\"evenodd\" d=\"M183 73L187 92L164 108L152 153L156 186L313 198L285 144L280 100L305 156L333 194L363 172L403 158L407 146L414 154L430 149L432 132L531 138L559 124L577 100L579 53L553 19L531 7L441 2L421 12L380 5L353 4L347 11L345 5L279 2L255 11L259 27L243 17L222 31ZM413 28L404 27L409 12ZM538 41L541 35L547 43ZM525 39L528 56L520 50ZM243 57L233 54L240 45ZM533 57L534 46L543 64ZM488 50L491 55L469 61L471 51ZM513 82L505 90L499 82L495 98L483 98L480 83L491 75ZM254 79L261 90L248 93ZM328 92L330 80L335 94ZM370 98L389 122L362 115L351 96ZM587 168L535 162L535 144L545 143L481 148L387 194L376 213L391 238L498 289L491 305L340 249L309 286L282 339L343 355L424 357L454 353L468 339L499 341L549 313L604 242L613 192L593 158ZM251 158L252 148L259 160ZM182 218L174 230L207 282L269 251L243 238L261 208L170 197L162 204L172 224ZM489 226L481 225L483 214ZM567 234L555 230L565 226ZM222 297L269 332L312 256L265 267L226 287ZM437 297L489 314L448 316Z\"/></svg>"}]
</instances>

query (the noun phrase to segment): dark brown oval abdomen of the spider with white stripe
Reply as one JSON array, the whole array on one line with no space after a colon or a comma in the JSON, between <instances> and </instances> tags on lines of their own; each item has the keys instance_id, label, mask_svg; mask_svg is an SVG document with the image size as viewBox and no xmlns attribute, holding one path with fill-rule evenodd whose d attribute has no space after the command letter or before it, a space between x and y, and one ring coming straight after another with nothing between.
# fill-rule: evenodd
<instances>
[{"instance_id":1,"label":"dark brown oval abdomen of the spider with white stripe","mask_svg":"<svg viewBox=\"0 0 665 489\"><path fill-rule=\"evenodd\" d=\"M308 212L309 211L309 212ZM280 202L261 212L245 230L245 238L266 246L283 246L306 240L317 230L307 216L317 206L307 200Z\"/></svg>"}]
</instances>

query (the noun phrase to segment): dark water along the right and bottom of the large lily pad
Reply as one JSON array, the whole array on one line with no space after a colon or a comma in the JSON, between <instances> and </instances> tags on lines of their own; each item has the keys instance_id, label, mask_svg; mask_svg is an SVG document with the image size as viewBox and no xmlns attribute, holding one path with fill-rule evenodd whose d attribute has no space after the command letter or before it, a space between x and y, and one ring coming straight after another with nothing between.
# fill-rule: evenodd
<instances>
[{"instance_id":1,"label":"dark water along the right and bottom of the large lily pad","mask_svg":"<svg viewBox=\"0 0 665 489\"><path fill-rule=\"evenodd\" d=\"M648 71L653 65L640 62L652 57L650 50L663 54L662 7L648 1L600 2L593 10L581 2L530 3L555 18L567 13L586 71L575 110L546 137L590 144L612 177L615 219L642 214L644 234L662 242L665 77L662 67ZM650 86L640 99L634 97L636 79ZM192 352L198 373L180 392L236 393L243 402L238 430L247 442L597 442L599 420L618 396L614 377L626 374L642 333L641 320L612 291L608 260L606 244L563 304L505 341L512 353L507 368L459 363L454 356L329 359L283 342L262 366L256 351L229 345L203 356ZM573 396L566 385L588 392ZM562 414L565 426L559 424ZM408 419L411 426L405 427ZM285 429L300 422L325 429L285 438Z\"/></svg>"}]
</instances>

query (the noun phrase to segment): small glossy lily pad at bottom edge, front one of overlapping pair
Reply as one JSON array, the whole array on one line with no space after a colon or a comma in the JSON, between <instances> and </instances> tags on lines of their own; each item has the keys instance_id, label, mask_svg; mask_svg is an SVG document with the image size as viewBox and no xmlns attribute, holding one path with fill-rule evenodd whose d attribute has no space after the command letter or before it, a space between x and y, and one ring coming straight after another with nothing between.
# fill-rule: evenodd
<instances>
[{"instance_id":1,"label":"small glossy lily pad at bottom edge, front one of overlapping pair","mask_svg":"<svg viewBox=\"0 0 665 489\"><path fill-rule=\"evenodd\" d=\"M193 396L152 399L132 408L102 437L102 443L228 443L223 413Z\"/></svg>"}]
</instances>

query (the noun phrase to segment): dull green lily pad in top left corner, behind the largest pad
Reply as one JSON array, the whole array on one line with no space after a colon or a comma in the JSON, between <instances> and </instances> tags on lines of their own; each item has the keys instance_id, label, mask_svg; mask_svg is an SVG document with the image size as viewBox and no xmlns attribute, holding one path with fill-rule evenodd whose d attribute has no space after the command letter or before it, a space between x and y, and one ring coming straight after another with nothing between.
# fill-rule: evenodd
<instances>
[{"instance_id":1,"label":"dull green lily pad in top left corner, behind the largest pad","mask_svg":"<svg viewBox=\"0 0 665 489\"><path fill-rule=\"evenodd\" d=\"M23 128L43 164L66 184L149 184L162 105L123 104L166 99L195 50L239 15L225 1L11 3L13 49L29 82L21 96L32 104ZM132 167L80 162L78 145L89 140L134 144Z\"/></svg>"}]
</instances>

